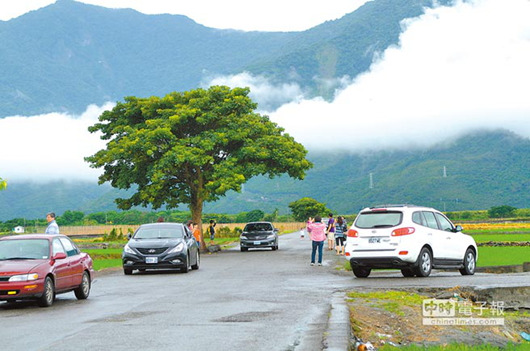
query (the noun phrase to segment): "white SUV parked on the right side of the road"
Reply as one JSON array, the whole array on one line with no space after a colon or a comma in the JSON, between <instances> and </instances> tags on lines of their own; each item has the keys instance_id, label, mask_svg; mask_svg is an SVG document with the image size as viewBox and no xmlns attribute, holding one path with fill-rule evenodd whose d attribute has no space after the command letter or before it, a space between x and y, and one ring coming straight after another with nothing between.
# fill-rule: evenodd
<instances>
[{"instance_id":1,"label":"white SUV parked on the right side of the road","mask_svg":"<svg viewBox=\"0 0 530 351\"><path fill-rule=\"evenodd\" d=\"M440 211L412 205L365 208L348 230L345 258L353 274L397 268L405 277L427 277L433 268L475 273L475 240Z\"/></svg>"}]
</instances>

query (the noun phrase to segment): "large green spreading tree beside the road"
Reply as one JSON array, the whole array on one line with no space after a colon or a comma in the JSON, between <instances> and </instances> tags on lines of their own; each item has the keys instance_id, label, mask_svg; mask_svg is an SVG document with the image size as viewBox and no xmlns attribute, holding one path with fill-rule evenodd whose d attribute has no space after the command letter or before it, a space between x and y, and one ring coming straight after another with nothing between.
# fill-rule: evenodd
<instances>
[{"instance_id":1,"label":"large green spreading tree beside the road","mask_svg":"<svg viewBox=\"0 0 530 351\"><path fill-rule=\"evenodd\" d=\"M255 112L248 88L213 86L162 98L127 97L89 127L108 140L85 160L103 168L99 183L130 189L118 207L187 204L201 223L203 204L256 175L303 179L312 164L284 129ZM204 242L203 242L204 247Z\"/></svg>"}]
</instances>

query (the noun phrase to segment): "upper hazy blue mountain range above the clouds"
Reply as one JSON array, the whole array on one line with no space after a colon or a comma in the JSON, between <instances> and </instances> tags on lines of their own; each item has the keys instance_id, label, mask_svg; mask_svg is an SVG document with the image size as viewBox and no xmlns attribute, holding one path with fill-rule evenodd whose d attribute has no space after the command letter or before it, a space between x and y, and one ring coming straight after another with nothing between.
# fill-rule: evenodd
<instances>
[{"instance_id":1,"label":"upper hazy blue mountain range above the clouds","mask_svg":"<svg viewBox=\"0 0 530 351\"><path fill-rule=\"evenodd\" d=\"M330 96L329 80L366 70L374 53L397 43L401 20L424 6L432 0L374 0L303 32L244 32L58 0L0 21L0 118L80 113L242 71Z\"/></svg>"}]
</instances>

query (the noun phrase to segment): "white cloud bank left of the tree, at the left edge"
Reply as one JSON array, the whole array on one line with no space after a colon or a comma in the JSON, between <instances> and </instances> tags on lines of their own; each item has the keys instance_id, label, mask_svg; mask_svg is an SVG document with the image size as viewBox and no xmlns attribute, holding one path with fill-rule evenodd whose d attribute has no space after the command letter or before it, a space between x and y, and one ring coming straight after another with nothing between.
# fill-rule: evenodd
<instances>
[{"instance_id":1,"label":"white cloud bank left of the tree, at the left edge","mask_svg":"<svg viewBox=\"0 0 530 351\"><path fill-rule=\"evenodd\" d=\"M91 105L81 116L50 113L0 119L0 176L27 180L97 180L101 170L84 162L105 144L88 132L112 104Z\"/></svg>"}]
</instances>

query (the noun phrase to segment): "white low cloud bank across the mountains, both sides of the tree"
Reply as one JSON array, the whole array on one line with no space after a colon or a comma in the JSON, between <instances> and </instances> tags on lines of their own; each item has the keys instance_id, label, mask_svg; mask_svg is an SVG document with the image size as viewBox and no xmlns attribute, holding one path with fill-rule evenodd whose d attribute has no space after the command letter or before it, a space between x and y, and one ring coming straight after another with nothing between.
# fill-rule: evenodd
<instances>
[{"instance_id":1,"label":"white low cloud bank across the mountains, both sides of the tree","mask_svg":"<svg viewBox=\"0 0 530 351\"><path fill-rule=\"evenodd\" d=\"M530 138L528 18L528 0L428 10L403 23L399 45L379 53L369 71L333 82L332 101L307 99L294 83L276 86L246 72L205 77L203 85L249 86L260 105L281 102L260 112L310 151L424 148L477 129L504 128ZM104 144L87 126L111 107L89 106L82 116L0 119L0 150L9 150L0 153L0 177L95 179L100 171L89 169L83 157ZM33 142L20 142L20 135Z\"/></svg>"}]
</instances>

